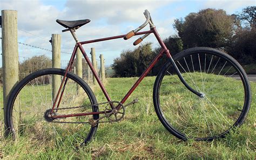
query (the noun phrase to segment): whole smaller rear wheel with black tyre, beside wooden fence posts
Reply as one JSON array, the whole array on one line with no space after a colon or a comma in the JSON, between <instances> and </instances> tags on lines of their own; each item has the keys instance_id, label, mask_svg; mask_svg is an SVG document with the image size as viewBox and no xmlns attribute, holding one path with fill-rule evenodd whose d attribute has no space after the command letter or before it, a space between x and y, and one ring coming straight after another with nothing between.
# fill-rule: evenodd
<instances>
[{"instance_id":1,"label":"whole smaller rear wheel with black tyre, beside wooden fence posts","mask_svg":"<svg viewBox=\"0 0 256 160\"><path fill-rule=\"evenodd\" d=\"M98 124L94 127L89 124L90 127L85 128L83 124L63 123L65 121L71 122L74 119L75 121L85 121L83 116L83 118L69 117L72 119L70 120L69 118L66 118L64 120L59 120L62 123L56 123L55 121L48 122L44 117L46 110L52 108L52 75L60 77L59 80L61 80L61 76L64 76L64 74L64 69L42 69L29 74L18 83L10 94L6 111L6 127L9 135L12 135L13 137L26 136L32 138L33 141L36 142L51 141L55 142L55 144L60 144L60 142L79 144L83 142L82 144L86 144L92 139L93 135L96 133ZM68 82L58 112L64 112L64 114L65 112L73 112L71 111L72 109L60 109L64 105L75 107L70 105L80 103L90 103L89 107L85 106L83 110L87 109L92 110L92 112L98 112L98 106L93 105L97 104L97 100L91 88L81 78L71 72L68 72L66 77L68 78ZM75 91L73 88L76 87L76 85L78 89L76 88ZM33 109L35 111L33 111ZM18 123L16 123L16 115L18 115ZM99 118L99 115L95 114L91 116L91 118L96 120ZM84 136L86 134L85 131L87 132L86 136ZM78 133L80 135L78 135Z\"/></svg>"}]
</instances>

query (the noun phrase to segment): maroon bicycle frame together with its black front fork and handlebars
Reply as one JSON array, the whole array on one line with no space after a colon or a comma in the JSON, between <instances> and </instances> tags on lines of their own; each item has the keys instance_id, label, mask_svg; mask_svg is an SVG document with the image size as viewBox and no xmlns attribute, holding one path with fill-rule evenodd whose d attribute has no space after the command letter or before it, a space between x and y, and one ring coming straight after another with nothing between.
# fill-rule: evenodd
<instances>
[{"instance_id":1,"label":"maroon bicycle frame together with its black front fork and handlebars","mask_svg":"<svg viewBox=\"0 0 256 160\"><path fill-rule=\"evenodd\" d=\"M145 14L145 13L144 13ZM157 38L157 41L158 43L160 44L161 46L161 50L160 52L157 54L157 56L152 60L151 64L149 65L149 67L147 67L145 69L145 71L143 72L142 75L140 75L139 79L134 83L134 85L131 87L131 89L127 92L127 94L124 96L124 98L120 101L120 103L124 103L128 98L129 96L132 94L132 92L134 91L134 89L136 89L136 87L140 84L140 82L145 78L145 76L147 75L147 73L149 73L152 69L152 67L154 65L156 65L156 63L158 62L158 60L163 56L163 54L165 53L167 55L167 58L170 59L174 69L176 70L176 73L177 75L179 76L179 79L181 80L181 82L183 82L183 84L191 91L193 92L194 94L198 95L198 96L202 96L203 94L201 93L198 93L197 91L195 91L193 88L191 88L190 86L188 86L188 84L185 82L185 80L183 79L183 77L181 76L180 72L179 72L179 69L177 68L175 62L173 61L172 57L171 57L171 54L170 54L170 51L167 49L167 47L165 46L163 40L161 40L157 30L156 30L156 27L152 24L152 20L151 20L151 17L148 15L145 15L145 17L147 18L147 23L150 23L150 30L149 31L144 31L144 32L137 32L139 31L140 29L142 29L143 27L145 27L146 25L146 22L141 25L140 27L138 27L138 29L134 30L134 31L131 31L129 32L128 34L132 33L134 36L137 36L137 35L140 35L140 34L145 34L144 35L144 38L146 36L148 36L149 34L153 33L154 36ZM63 31L66 31L66 30L63 30ZM62 100L62 95L64 93L64 89L65 89L65 85L66 85L66 82L68 81L68 78L66 78L66 74L71 71L71 66L73 64L73 61L75 59L75 55L76 55L76 52L77 52L77 49L79 48L79 50L82 52L87 64L89 65L89 67L91 68L91 71L93 73L93 75L95 76L100 88L102 89L102 92L104 93L105 97L106 97L106 100L108 102L111 102L111 98L109 96L109 94L107 93L104 85L102 84L102 81L100 81L99 79L99 76L98 74L96 73L95 71L95 68L93 68L92 66L92 63L91 61L89 60L89 58L87 57L87 54L85 53L84 51L84 48L82 45L84 44L89 44L89 43L95 43L95 42L98 42L98 41L105 41L105 40L111 40L111 39L118 39L118 38L124 38L125 36L127 36L128 34L124 34L124 35L120 35L120 36L114 36L114 37L107 37L107 38L100 38L100 39L94 39L94 40L87 40L87 41L82 41L82 42L79 42L77 40L77 37L75 35L75 32L73 29L69 29L69 31L71 32L72 36L74 37L74 39L76 40L76 45L75 45L75 48L73 50L73 53L71 55L71 58L70 58L70 61L69 61L69 64L68 64L68 67L66 68L66 72L64 74L64 78L62 80L62 84L60 85L59 87L59 91L56 95L56 98L53 102L53 106L52 106L52 110L51 110L51 113L53 113L53 111L55 110L55 108L58 109L59 105L60 105L60 101ZM133 36L132 35L132 36ZM129 37L130 38L130 37ZM58 101L58 104L57 104L57 101ZM57 104L57 106L56 106ZM113 109L113 104L110 103L112 109ZM120 106L117 106L117 109L119 109ZM111 112L111 111L110 111ZM52 118L54 119L57 119L57 118L63 118L63 117L73 117L73 116L86 116L86 115L94 115L94 114L105 114L106 112L105 111L102 111L102 112L89 112L89 113L77 113L77 114L68 114L68 115L52 115Z\"/></svg>"}]
</instances>

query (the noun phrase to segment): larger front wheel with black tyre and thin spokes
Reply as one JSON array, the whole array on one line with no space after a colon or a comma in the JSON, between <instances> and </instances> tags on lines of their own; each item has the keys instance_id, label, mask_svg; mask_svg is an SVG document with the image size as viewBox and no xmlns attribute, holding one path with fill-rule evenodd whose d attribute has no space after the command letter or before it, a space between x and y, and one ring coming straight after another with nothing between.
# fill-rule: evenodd
<instances>
[{"instance_id":1,"label":"larger front wheel with black tyre and thin spokes","mask_svg":"<svg viewBox=\"0 0 256 160\"><path fill-rule=\"evenodd\" d=\"M179 80L171 62L158 73L153 90L154 108L164 127L183 140L211 141L245 120L251 103L244 69L230 55L196 47L173 57L193 94Z\"/></svg>"}]
</instances>

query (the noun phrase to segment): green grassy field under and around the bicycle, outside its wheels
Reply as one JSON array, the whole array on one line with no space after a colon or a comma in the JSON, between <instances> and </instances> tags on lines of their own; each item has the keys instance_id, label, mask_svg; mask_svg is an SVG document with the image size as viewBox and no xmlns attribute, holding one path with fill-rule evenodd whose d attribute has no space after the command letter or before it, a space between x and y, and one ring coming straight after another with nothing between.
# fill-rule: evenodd
<instances>
[{"instance_id":1,"label":"green grassy field under and around the bicycle, outside its wheels","mask_svg":"<svg viewBox=\"0 0 256 160\"><path fill-rule=\"evenodd\" d=\"M120 101L137 78L108 78L106 89L112 100ZM84 148L60 143L35 145L29 139L17 142L2 137L0 158L6 159L255 159L256 83L251 82L252 105L245 123L226 138L213 142L184 142L171 135L154 112L152 92L155 77L146 77L127 102L139 102L126 108L123 121L102 123L95 140ZM118 85L117 85L118 84ZM98 102L103 93L93 87ZM0 96L0 100L2 97ZM2 105L2 104L1 104Z\"/></svg>"}]
</instances>

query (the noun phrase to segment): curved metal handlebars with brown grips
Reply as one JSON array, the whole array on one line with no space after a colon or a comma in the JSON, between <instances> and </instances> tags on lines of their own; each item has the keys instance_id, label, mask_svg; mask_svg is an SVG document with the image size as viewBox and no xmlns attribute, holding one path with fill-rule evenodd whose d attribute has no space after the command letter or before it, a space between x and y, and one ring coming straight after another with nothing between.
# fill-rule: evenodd
<instances>
[{"instance_id":1,"label":"curved metal handlebars with brown grips","mask_svg":"<svg viewBox=\"0 0 256 160\"><path fill-rule=\"evenodd\" d=\"M137 29L132 30L129 33L127 33L124 36L125 40L127 40L127 39L131 38L132 36L134 36L139 30L143 29L148 23L150 24L150 28L154 27L154 24L153 24L151 16L150 16L150 12L148 10L145 10L144 16L146 17L146 21L142 25L140 25ZM134 41L133 45L139 44L147 36L149 36L149 33L145 34L143 37L140 37L139 39Z\"/></svg>"}]
</instances>

